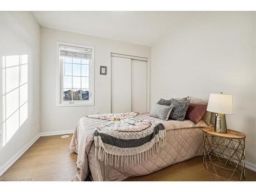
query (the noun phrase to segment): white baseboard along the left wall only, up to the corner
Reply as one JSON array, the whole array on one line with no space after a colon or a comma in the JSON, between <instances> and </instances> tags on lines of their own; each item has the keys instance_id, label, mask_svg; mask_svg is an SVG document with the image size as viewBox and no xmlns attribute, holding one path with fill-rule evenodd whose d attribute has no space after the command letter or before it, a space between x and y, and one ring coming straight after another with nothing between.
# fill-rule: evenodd
<instances>
[{"instance_id":1,"label":"white baseboard along the left wall only, up to the corner","mask_svg":"<svg viewBox=\"0 0 256 192\"><path fill-rule=\"evenodd\" d=\"M38 133L30 142L28 142L21 150L18 151L9 161L7 161L2 167L0 167L0 176L2 176L13 163L15 163L20 156L22 156L31 145L39 139L40 133Z\"/></svg>"}]
</instances>

